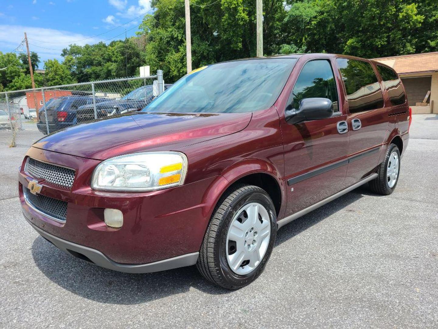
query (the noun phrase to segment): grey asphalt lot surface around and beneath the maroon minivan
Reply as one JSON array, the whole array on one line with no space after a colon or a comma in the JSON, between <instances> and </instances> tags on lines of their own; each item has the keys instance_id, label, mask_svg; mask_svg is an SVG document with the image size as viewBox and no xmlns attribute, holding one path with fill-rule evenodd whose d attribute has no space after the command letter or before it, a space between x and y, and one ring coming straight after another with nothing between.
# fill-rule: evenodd
<instances>
[{"instance_id":1,"label":"grey asphalt lot surface around and beneath the maroon minivan","mask_svg":"<svg viewBox=\"0 0 438 329\"><path fill-rule=\"evenodd\" d=\"M280 229L238 291L196 268L132 275L68 256L21 215L26 149L0 146L0 328L438 327L438 115L415 115L396 191L354 190Z\"/></svg>"}]
</instances>

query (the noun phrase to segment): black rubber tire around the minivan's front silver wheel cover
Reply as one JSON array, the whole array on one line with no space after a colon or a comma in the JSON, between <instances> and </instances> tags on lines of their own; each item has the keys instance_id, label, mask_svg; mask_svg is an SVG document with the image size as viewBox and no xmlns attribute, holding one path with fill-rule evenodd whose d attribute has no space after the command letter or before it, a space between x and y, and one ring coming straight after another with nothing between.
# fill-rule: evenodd
<instances>
[{"instance_id":1,"label":"black rubber tire around the minivan's front silver wheel cover","mask_svg":"<svg viewBox=\"0 0 438 329\"><path fill-rule=\"evenodd\" d=\"M265 255L258 266L246 275L238 275L228 265L226 237L237 211L245 204L252 202L261 204L268 211L271 225L270 240ZM268 193L257 186L238 185L226 193L215 207L199 250L196 267L206 279L218 286L230 290L242 288L257 279L263 272L274 247L276 235L276 211Z\"/></svg>"}]
</instances>

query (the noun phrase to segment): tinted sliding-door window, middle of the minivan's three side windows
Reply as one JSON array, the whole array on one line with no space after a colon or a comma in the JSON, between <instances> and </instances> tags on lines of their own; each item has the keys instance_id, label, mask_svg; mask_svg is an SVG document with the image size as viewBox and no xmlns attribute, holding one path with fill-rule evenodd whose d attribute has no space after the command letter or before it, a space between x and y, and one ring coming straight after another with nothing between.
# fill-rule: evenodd
<instances>
[{"instance_id":1,"label":"tinted sliding-door window, middle of the minivan's three side windows","mask_svg":"<svg viewBox=\"0 0 438 329\"><path fill-rule=\"evenodd\" d=\"M344 81L350 113L371 111L384 106L383 94L370 63L337 58Z\"/></svg>"}]
</instances>

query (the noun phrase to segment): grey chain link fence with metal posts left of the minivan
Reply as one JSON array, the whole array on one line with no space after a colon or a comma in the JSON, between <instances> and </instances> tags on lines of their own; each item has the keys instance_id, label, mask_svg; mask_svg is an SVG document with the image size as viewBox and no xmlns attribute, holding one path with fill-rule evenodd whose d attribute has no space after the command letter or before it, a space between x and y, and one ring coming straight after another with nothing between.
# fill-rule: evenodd
<instances>
[{"instance_id":1,"label":"grey chain link fence with metal posts left of the minivan","mask_svg":"<svg viewBox=\"0 0 438 329\"><path fill-rule=\"evenodd\" d=\"M138 111L169 85L162 71L0 93L0 145L28 147L47 134L90 120Z\"/></svg>"}]
</instances>

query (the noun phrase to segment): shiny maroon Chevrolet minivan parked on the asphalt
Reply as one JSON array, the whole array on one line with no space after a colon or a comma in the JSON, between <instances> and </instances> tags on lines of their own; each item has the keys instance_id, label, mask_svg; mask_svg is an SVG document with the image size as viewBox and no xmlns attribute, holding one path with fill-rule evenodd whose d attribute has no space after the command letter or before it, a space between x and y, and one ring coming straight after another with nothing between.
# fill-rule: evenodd
<instances>
[{"instance_id":1,"label":"shiny maroon Chevrolet minivan parked on the asphalt","mask_svg":"<svg viewBox=\"0 0 438 329\"><path fill-rule=\"evenodd\" d=\"M140 112L46 136L19 173L46 240L130 273L187 265L237 289L277 230L368 183L390 194L411 113L392 68L331 54L252 58L184 76Z\"/></svg>"}]
</instances>

